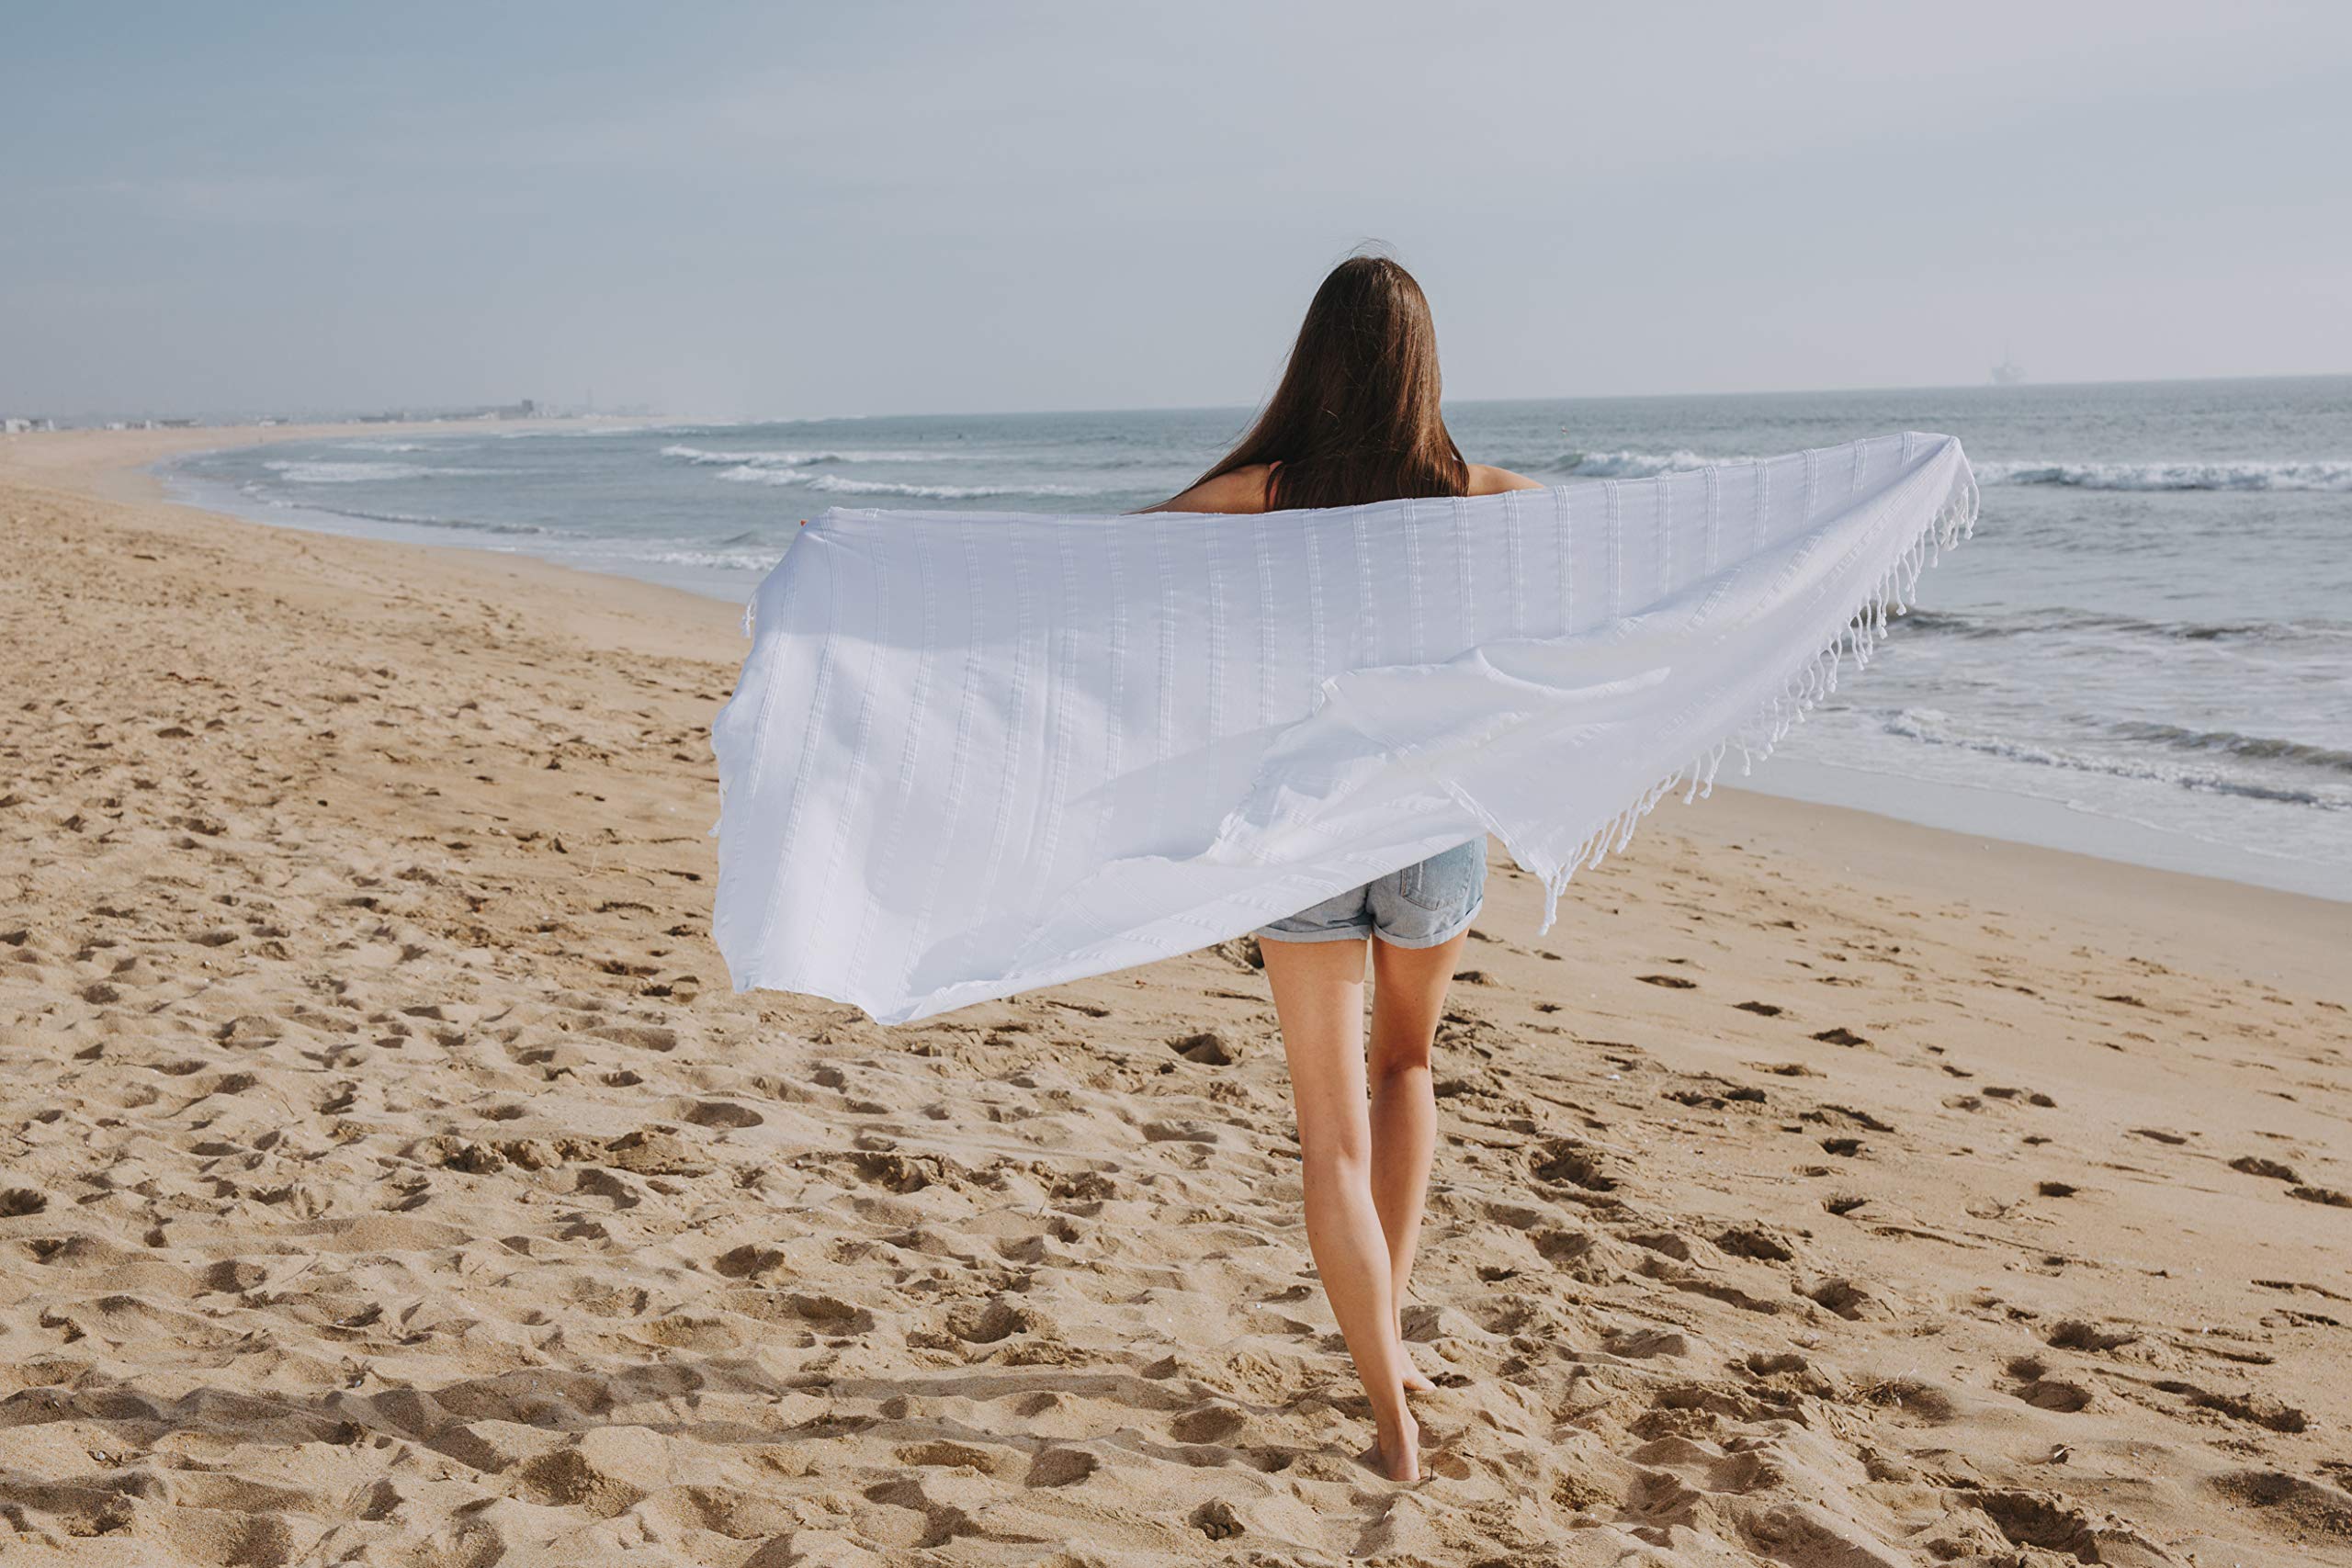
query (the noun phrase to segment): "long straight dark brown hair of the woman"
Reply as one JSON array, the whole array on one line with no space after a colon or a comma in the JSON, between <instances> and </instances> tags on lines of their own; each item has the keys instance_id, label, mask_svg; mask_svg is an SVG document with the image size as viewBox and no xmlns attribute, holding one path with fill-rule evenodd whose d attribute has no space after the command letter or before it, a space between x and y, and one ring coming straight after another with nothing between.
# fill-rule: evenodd
<instances>
[{"instance_id":1,"label":"long straight dark brown hair of the woman","mask_svg":"<svg viewBox=\"0 0 2352 1568\"><path fill-rule=\"evenodd\" d=\"M1202 480L1275 463L1268 508L1461 496L1470 465L1437 409L1437 327L1388 256L1331 268L1258 423Z\"/></svg>"}]
</instances>

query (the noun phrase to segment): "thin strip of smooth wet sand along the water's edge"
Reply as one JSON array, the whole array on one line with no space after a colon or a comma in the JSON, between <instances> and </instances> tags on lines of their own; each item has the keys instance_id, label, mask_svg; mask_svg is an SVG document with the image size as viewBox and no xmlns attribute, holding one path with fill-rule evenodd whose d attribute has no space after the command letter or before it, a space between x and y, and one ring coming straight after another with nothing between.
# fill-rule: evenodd
<instances>
[{"instance_id":1,"label":"thin strip of smooth wet sand along the water's edge","mask_svg":"<svg viewBox=\"0 0 2352 1568\"><path fill-rule=\"evenodd\" d=\"M644 428L647 421L506 421L503 430L564 430L564 428L590 428L593 423L609 423L612 428ZM656 428L663 421L652 421ZM466 435L480 433L477 421L442 421L442 423L419 423L402 425L421 435ZM280 442L303 442L320 440L329 435L367 435L381 433L381 425L315 425L315 428L273 428L254 430L256 440L230 442L245 447L266 447ZM162 435L162 433L125 433L125 435ZM169 435L205 435L205 433L169 433ZM240 430L242 435L242 430ZM322 534L329 538L367 538L381 543L412 545L423 550L459 550L470 555L487 555L499 559L536 559L553 564L562 571L579 571L595 578L623 581L623 583L647 583L666 590L680 590L694 597L706 597L720 604L741 609L757 578L741 578L741 574L720 574L710 569L604 569L602 564L569 562L555 550L536 550L532 545L492 545L477 543L461 536L456 524L390 524L383 520L362 522L350 520L332 510L306 510L306 508L240 508L238 498L219 482L202 482L193 477L174 477L167 473L169 463L176 463L202 451L216 451L221 444L193 442L188 447L174 449L158 458L143 458L139 463L141 473L151 475L153 491L158 496L172 498L179 505L191 505L219 517L235 517L238 522L296 529L303 534ZM433 534L459 534L456 538L435 538ZM739 581L741 578L741 581ZM2063 851L2089 856L2093 860L2114 865L2136 865L2145 870L2166 870L2190 877L2204 877L2213 882L2230 882L2241 886L2270 889L2279 893L2296 893L2305 898L2319 898L2326 903L2352 903L2352 882L2338 877L2333 867L2312 867L2300 860L2281 856L2260 856L2258 851L2239 849L2232 844L2218 844L2178 827L2157 827L2152 823L2122 816L2114 811L2091 811L2082 809L2058 795L2039 795L2032 790L2004 790L1990 785L1957 785L1936 783L1912 773L1879 771L1849 766L1837 762L1818 762L1802 757L1773 757L1759 764L1752 778L1740 780L1736 788L1743 795L1766 795L1773 799L1804 802L1839 811L1860 811L1879 816L1896 823L1910 823L1917 827L1931 827L1943 832L1955 832L1969 839L1997 839L2006 844L2023 844L2034 849ZM1889 797L1900 797L1903 811L1889 809Z\"/></svg>"}]
</instances>

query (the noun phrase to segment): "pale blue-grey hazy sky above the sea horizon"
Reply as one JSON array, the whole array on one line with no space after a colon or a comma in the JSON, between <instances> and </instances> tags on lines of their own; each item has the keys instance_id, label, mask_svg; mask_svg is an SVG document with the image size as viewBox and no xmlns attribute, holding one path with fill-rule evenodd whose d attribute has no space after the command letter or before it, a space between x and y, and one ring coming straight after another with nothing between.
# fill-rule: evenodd
<instances>
[{"instance_id":1,"label":"pale blue-grey hazy sky above the sea horizon","mask_svg":"<svg viewBox=\"0 0 2352 1568\"><path fill-rule=\"evenodd\" d=\"M0 0L0 414L2352 371L2345 5Z\"/></svg>"}]
</instances>

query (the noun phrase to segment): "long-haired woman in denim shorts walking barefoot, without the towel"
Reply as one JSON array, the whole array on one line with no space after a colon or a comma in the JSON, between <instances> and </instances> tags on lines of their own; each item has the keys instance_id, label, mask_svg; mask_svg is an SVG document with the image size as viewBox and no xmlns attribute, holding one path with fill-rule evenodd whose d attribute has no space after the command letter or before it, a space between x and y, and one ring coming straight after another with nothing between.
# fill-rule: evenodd
<instances>
[{"instance_id":1,"label":"long-haired woman in denim shorts walking barefoot, without the towel","mask_svg":"<svg viewBox=\"0 0 2352 1568\"><path fill-rule=\"evenodd\" d=\"M1282 386L1242 444L1150 510L1272 512L1541 489L1465 463L1437 388L1437 329L1421 284L1385 256L1352 256L1315 292ZM1486 842L1472 839L1258 931L1298 1100L1308 1248L1371 1394L1378 1462L1392 1481L1421 1479L1404 1394L1432 1387L1406 1359L1397 1319L1437 1143L1430 1044L1484 886Z\"/></svg>"}]
</instances>

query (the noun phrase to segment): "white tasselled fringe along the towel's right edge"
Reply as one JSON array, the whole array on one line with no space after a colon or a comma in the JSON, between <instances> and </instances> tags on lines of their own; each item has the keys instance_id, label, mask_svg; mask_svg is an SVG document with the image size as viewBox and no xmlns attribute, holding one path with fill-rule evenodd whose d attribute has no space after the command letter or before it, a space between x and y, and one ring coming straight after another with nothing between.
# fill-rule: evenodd
<instances>
[{"instance_id":1,"label":"white tasselled fringe along the towel's right edge","mask_svg":"<svg viewBox=\"0 0 2352 1568\"><path fill-rule=\"evenodd\" d=\"M1715 773L1722 769L1724 757L1731 750L1738 750L1740 755L1740 773L1752 773L1755 764L1771 757L1773 748L1780 745L1790 729L1804 724L1806 712L1811 712L1816 703L1837 691L1837 668L1842 661L1851 658L1856 670L1867 670L1870 658L1879 649L1879 639L1886 637L1889 611L1893 611L1893 616L1910 614L1922 574L1929 567L1940 564L1945 550L1957 550L1976 534L1976 475L1964 468L1962 484L1957 484L1945 503L1936 508L1936 515L1929 517L1926 527L1919 529L1919 536L1905 545L1903 555L1896 557L1896 564L1879 576L1860 609L1856 609L1846 623L1830 635L1828 646L1813 649L1806 654L1804 663L1790 670L1780 693L1769 698L1755 719L1726 741L1715 743L1691 762L1661 778L1632 806L1625 806L1585 835L1583 844L1576 846L1576 853L1571 853L1559 870L1543 879L1543 931L1550 931L1552 922L1559 919L1559 896L1569 891L1569 877L1583 867L1597 867L1611 853L1623 853L1625 846L1632 844L1632 832L1639 820L1649 816L1670 790L1689 780L1682 797L1686 804L1712 795Z\"/></svg>"}]
</instances>

